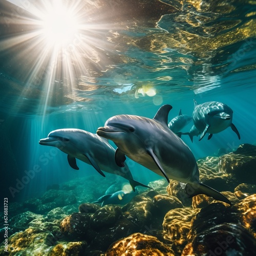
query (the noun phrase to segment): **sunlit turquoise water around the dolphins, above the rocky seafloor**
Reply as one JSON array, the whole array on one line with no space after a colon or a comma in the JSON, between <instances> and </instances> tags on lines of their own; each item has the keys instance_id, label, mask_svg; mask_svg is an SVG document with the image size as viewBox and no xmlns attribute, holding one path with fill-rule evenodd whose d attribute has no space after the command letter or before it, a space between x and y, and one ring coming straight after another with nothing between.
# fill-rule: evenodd
<instances>
[{"instance_id":1,"label":"sunlit turquoise water around the dolphins, above the rocky seafloor","mask_svg":"<svg viewBox=\"0 0 256 256\"><path fill-rule=\"evenodd\" d=\"M36 2L40 3L34 1L35 6ZM90 6L88 27L81 20L89 7L81 8L79 31L61 49L44 41L37 14L21 14L7 1L1 3L1 151L2 161L13 160L4 165L2 192L10 200L35 197L47 186L73 178L95 175L104 182L92 166L78 162L80 170L75 171L66 154L38 141L61 128L96 133L118 114L153 118L161 105L171 104L170 121L180 109L192 115L193 99L221 101L233 110L241 140L230 127L211 140L195 137L192 143L182 136L196 159L217 155L220 148L229 153L242 143L256 142L255 4L165 2L176 8L152 1L148 8L155 11L143 11L146 2L141 1L133 13L118 1L112 6L99 1ZM111 8L121 11L110 17ZM34 166L40 172L12 197L10 186ZM159 178L137 163L131 171L145 184Z\"/></svg>"}]
</instances>

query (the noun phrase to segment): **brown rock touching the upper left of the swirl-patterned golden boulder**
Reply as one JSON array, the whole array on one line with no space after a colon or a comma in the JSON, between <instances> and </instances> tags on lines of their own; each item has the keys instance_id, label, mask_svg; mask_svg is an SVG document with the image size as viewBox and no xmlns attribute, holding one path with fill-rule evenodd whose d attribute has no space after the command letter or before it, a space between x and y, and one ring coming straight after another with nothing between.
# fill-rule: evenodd
<instances>
[{"instance_id":1,"label":"brown rock touching the upper left of the swirl-patterned golden boulder","mask_svg":"<svg viewBox=\"0 0 256 256\"><path fill-rule=\"evenodd\" d=\"M169 210L183 207L178 198L164 195L155 196L153 198L153 204L156 207L157 214L162 215L163 217Z\"/></svg>"}]
</instances>

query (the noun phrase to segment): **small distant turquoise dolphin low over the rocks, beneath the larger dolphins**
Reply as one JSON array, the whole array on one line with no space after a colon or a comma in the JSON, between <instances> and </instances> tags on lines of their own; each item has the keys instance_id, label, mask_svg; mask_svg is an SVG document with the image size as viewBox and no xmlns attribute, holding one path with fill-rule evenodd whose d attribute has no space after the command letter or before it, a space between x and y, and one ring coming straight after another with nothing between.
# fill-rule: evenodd
<instances>
[{"instance_id":1,"label":"small distant turquoise dolphin low over the rocks, beneath the larger dolphins","mask_svg":"<svg viewBox=\"0 0 256 256\"><path fill-rule=\"evenodd\" d=\"M113 194L104 195L97 199L97 201L94 201L93 203L101 203L101 206L104 206L106 204L127 204L129 203L132 198L134 198L136 195L138 195L137 189L135 191L124 191L120 190Z\"/></svg>"}]
</instances>

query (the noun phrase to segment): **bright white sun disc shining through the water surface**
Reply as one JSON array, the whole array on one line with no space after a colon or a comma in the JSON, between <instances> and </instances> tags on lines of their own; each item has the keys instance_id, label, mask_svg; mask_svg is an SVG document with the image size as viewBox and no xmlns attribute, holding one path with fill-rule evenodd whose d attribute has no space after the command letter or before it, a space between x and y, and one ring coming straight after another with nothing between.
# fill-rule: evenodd
<instances>
[{"instance_id":1,"label":"bright white sun disc shining through the water surface","mask_svg":"<svg viewBox=\"0 0 256 256\"><path fill-rule=\"evenodd\" d=\"M52 1L47 12L42 15L41 34L48 45L65 47L78 33L78 21L72 8L62 1Z\"/></svg>"}]
</instances>

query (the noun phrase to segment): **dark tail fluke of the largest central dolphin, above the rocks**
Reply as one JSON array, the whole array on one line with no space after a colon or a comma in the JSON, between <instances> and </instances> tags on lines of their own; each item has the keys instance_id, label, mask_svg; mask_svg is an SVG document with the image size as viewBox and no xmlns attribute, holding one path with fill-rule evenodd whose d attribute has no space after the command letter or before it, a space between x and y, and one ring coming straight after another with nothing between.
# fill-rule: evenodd
<instances>
[{"instance_id":1,"label":"dark tail fluke of the largest central dolphin, above the rocks","mask_svg":"<svg viewBox=\"0 0 256 256\"><path fill-rule=\"evenodd\" d=\"M185 191L189 198L199 194L204 194L208 197L212 197L216 200L232 205L231 202L225 196L223 196L220 192L203 183L197 183L197 184L187 183L185 186Z\"/></svg>"}]
</instances>

